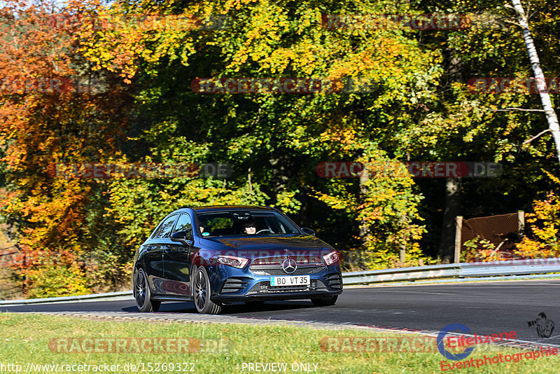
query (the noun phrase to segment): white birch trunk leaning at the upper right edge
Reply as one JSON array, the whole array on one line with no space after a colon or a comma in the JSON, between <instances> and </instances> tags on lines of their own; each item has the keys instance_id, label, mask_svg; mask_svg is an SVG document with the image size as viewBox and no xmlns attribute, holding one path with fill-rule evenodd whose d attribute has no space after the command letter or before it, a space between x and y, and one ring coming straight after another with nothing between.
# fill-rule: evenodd
<instances>
[{"instance_id":1,"label":"white birch trunk leaning at the upper right edge","mask_svg":"<svg viewBox=\"0 0 560 374\"><path fill-rule=\"evenodd\" d=\"M521 6L521 1L512 0L512 4L519 17L519 25L523 28L523 39L525 41L525 46L527 47L531 67L533 67L533 72L535 74L535 83L540 95L540 102L542 103L542 109L545 110L548 130L552 134L554 144L556 144L556 155L558 156L558 160L560 162L560 127L558 125L558 117L556 117L556 112L554 112L554 107L552 106L552 102L550 100L550 95L547 92L545 74L543 74L542 69L540 69L540 60L538 59L537 49L535 48L535 43L533 42L533 36L531 36L531 32L529 31L527 16Z\"/></svg>"}]
</instances>

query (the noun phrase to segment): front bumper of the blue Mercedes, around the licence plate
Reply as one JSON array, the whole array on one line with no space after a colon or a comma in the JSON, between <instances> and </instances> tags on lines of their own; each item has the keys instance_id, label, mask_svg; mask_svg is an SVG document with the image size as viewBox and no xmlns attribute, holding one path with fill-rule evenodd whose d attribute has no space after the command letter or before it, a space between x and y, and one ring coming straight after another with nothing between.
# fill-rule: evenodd
<instances>
[{"instance_id":1,"label":"front bumper of the blue Mercedes, around the licence plate","mask_svg":"<svg viewBox=\"0 0 560 374\"><path fill-rule=\"evenodd\" d=\"M213 266L209 270L211 298L222 303L321 298L342 293L339 265L324 266L320 271L309 268L309 272L300 272L298 275L309 275L311 284L307 286L270 286L270 275L255 274L248 267L237 269L230 266Z\"/></svg>"}]
</instances>

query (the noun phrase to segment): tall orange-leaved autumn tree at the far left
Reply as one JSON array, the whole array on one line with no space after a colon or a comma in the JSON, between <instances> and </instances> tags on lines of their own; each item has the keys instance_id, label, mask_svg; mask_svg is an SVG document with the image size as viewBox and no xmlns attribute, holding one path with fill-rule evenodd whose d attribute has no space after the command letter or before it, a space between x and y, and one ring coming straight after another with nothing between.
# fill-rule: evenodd
<instances>
[{"instance_id":1,"label":"tall orange-leaved autumn tree at the far left","mask_svg":"<svg viewBox=\"0 0 560 374\"><path fill-rule=\"evenodd\" d=\"M57 165L116 152L126 95L88 69L76 53L77 25L55 5L7 1L0 12L1 211L27 259L18 266L29 296L85 293L84 266L97 263L104 230L104 186L65 178Z\"/></svg>"}]
</instances>

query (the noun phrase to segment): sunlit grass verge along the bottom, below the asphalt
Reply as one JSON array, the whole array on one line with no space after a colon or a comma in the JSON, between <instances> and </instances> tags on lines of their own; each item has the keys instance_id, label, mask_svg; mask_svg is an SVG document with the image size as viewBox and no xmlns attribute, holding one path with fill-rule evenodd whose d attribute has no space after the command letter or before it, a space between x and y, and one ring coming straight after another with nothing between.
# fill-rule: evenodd
<instances>
[{"instance_id":1,"label":"sunlit grass verge along the bottom, below the asphalt","mask_svg":"<svg viewBox=\"0 0 560 374\"><path fill-rule=\"evenodd\" d=\"M23 372L30 363L58 365L58 370L31 366L35 370L29 371L34 373L442 373L441 361L459 362L445 360L437 352L435 343L429 345L428 350L431 352L414 352L414 345L410 347L399 342L385 346L379 343L383 341L379 340L381 338L402 338L402 334L387 335L363 330L106 321L48 314L0 313L0 331L0 373L2 370L15 373L18 367L7 365L16 364L21 365ZM157 338L163 340L158 343ZM120 343L117 341L123 342L123 345L118 346ZM169 345L168 341L172 344ZM188 343L181 346L181 341ZM379 344L368 348L363 344L367 341L377 341ZM395 342L394 339L391 341ZM97 347L96 342L99 343ZM142 342L145 343L144 347ZM379 352L377 347L380 345L393 352ZM95 352L95 349L99 352ZM154 349L157 352L150 352ZM477 345L468 359L463 361L474 359L476 362L477 359L484 359L484 355L491 357L498 354L516 354L519 358L519 353L526 352L494 345ZM479 368L457 368L443 373L557 373L559 360L559 356L537 359L524 357L518 362L491 363ZM137 366L135 370L132 370L131 363ZM148 370L150 363L151 370ZM250 370L248 363L253 363L253 370ZM261 363L262 366L255 366L255 363ZM269 366L265 366L267 363ZM270 366L270 363L285 363L286 366ZM109 370L108 366L99 370L99 365L104 364L109 366ZM126 364L129 366L125 367ZM78 365L90 367L80 368ZM93 365L97 365L96 370ZM117 365L120 366L115 367L118 370L111 370L111 366Z\"/></svg>"}]
</instances>

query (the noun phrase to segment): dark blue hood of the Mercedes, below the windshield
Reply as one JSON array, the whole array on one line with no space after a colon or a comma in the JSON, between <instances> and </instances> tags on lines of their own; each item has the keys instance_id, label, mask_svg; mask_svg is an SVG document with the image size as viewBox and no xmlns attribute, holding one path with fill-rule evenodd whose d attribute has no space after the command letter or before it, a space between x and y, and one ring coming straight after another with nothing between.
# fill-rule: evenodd
<instances>
[{"instance_id":1,"label":"dark blue hood of the Mercedes, below the windshield","mask_svg":"<svg viewBox=\"0 0 560 374\"><path fill-rule=\"evenodd\" d=\"M278 237L205 237L200 239L202 246L213 247L218 250L240 251L289 251L302 249L332 249L317 237L309 235L293 235Z\"/></svg>"}]
</instances>

